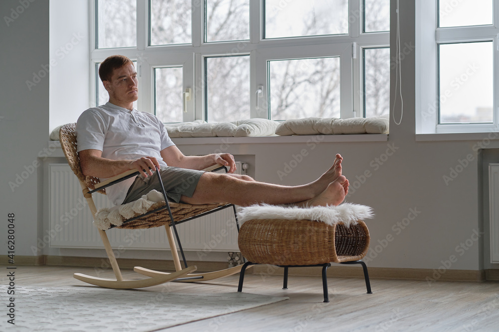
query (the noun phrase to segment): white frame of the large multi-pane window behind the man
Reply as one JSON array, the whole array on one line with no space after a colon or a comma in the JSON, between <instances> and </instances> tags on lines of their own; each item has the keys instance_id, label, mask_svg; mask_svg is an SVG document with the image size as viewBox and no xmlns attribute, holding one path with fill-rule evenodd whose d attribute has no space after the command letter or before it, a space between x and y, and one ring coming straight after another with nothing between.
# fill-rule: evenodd
<instances>
[{"instance_id":1,"label":"white frame of the large multi-pane window behind the man","mask_svg":"<svg viewBox=\"0 0 499 332\"><path fill-rule=\"evenodd\" d=\"M192 44L148 46L148 0L137 1L137 47L96 49L95 7L97 0L89 0L90 6L90 79L91 106L95 106L95 64L113 54L122 54L137 61L139 75L139 100L137 109L153 112L154 68L183 67L183 91L191 89L193 97L187 102L184 121L205 118L205 57L250 55L250 117L267 118L269 110L256 110L256 91L262 87L260 107L267 106L267 61L282 59L306 59L340 57L340 106L341 117L363 116L363 48L389 47L390 32L362 32L363 0L348 0L349 31L343 35L307 36L263 39L263 0L250 1L250 39L223 42L204 42L204 1L192 0ZM251 20L253 17L257 19ZM255 24L256 23L256 24ZM309 47L313 46L313 47Z\"/></svg>"}]
</instances>

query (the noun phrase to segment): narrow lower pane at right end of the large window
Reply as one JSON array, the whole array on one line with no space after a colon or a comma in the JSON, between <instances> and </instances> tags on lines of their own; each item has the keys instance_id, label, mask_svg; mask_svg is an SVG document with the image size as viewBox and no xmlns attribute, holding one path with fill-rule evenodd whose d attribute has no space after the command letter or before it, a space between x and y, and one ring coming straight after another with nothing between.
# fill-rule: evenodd
<instances>
[{"instance_id":1,"label":"narrow lower pane at right end of the large window","mask_svg":"<svg viewBox=\"0 0 499 332\"><path fill-rule=\"evenodd\" d=\"M364 49L364 114L388 115L390 111L390 49Z\"/></svg>"}]
</instances>

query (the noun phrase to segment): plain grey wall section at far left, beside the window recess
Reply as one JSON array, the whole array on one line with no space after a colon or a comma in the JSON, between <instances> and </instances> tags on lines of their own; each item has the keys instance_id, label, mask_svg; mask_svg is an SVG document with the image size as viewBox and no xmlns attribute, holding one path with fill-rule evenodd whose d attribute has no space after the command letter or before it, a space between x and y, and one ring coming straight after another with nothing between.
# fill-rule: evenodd
<instances>
[{"instance_id":1,"label":"plain grey wall section at far left, beside the window recess","mask_svg":"<svg viewBox=\"0 0 499 332\"><path fill-rule=\"evenodd\" d=\"M42 66L49 63L49 11L48 0L22 2L26 8L18 0L0 1L0 234L6 243L7 214L14 213L15 255L32 255L43 208L37 166L47 146L49 78ZM33 73L43 77L28 87ZM6 246L2 250L6 255Z\"/></svg>"}]
</instances>

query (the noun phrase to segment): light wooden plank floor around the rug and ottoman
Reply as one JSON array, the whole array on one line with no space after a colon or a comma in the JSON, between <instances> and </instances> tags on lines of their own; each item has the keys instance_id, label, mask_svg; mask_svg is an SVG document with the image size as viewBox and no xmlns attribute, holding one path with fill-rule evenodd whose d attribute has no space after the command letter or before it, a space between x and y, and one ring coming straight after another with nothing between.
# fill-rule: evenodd
<instances>
[{"instance_id":1,"label":"light wooden plank floor around the rug and ottoman","mask_svg":"<svg viewBox=\"0 0 499 332\"><path fill-rule=\"evenodd\" d=\"M2 285L8 283L4 272ZM18 266L15 284L83 286L72 278L73 272L94 275L92 268ZM123 275L137 276L130 271ZM236 292L238 282L239 274L204 284L168 283L149 290ZM328 278L328 285L331 302L323 303L320 276L290 276L289 289L282 290L281 276L262 278L247 273L244 292L288 296L289 300L161 331L499 331L499 282L428 285L425 281L372 279L373 294L366 294L363 279Z\"/></svg>"}]
</instances>

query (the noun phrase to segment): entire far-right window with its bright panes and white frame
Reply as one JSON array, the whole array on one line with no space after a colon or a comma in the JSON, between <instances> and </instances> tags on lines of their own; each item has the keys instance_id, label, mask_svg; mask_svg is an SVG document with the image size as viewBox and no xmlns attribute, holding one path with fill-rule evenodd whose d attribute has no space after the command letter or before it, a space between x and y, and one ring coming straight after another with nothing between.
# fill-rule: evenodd
<instances>
[{"instance_id":1,"label":"entire far-right window with its bright panes and white frame","mask_svg":"<svg viewBox=\"0 0 499 332\"><path fill-rule=\"evenodd\" d=\"M494 4L493 0L417 4L418 133L498 130L494 63L499 60L499 29L493 17L499 8Z\"/></svg>"}]
</instances>

